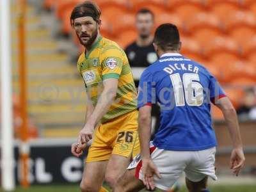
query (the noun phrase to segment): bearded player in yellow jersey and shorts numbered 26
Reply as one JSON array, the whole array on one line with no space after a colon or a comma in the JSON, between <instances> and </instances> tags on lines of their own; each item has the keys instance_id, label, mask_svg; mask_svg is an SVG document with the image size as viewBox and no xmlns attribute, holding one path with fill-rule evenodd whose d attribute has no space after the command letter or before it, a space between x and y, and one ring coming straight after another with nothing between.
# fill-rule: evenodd
<instances>
[{"instance_id":1,"label":"bearded player in yellow jersey and shorts numbered 26","mask_svg":"<svg viewBox=\"0 0 256 192\"><path fill-rule=\"evenodd\" d=\"M100 36L100 10L85 1L71 13L70 22L85 51L77 68L88 95L86 124L79 133L78 146L90 140L81 191L103 191L103 180L113 188L125 172L131 157L138 154L138 111L136 88L125 52L113 41Z\"/></svg>"}]
</instances>

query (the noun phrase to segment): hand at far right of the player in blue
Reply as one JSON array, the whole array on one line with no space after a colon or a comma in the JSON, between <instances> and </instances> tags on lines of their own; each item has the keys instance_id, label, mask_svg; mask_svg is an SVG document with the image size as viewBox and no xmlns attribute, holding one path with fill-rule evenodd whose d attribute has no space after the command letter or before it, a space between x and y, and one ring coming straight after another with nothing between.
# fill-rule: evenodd
<instances>
[{"instance_id":1,"label":"hand at far right of the player in blue","mask_svg":"<svg viewBox=\"0 0 256 192\"><path fill-rule=\"evenodd\" d=\"M230 157L230 169L233 170L234 175L238 176L239 172L244 166L245 157L243 148L234 148Z\"/></svg>"}]
</instances>

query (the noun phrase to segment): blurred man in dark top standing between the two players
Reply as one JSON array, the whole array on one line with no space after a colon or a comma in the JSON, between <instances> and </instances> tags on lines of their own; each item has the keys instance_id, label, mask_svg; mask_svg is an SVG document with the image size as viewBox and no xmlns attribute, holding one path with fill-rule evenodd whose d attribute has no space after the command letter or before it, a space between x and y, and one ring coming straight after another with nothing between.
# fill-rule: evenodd
<instances>
[{"instance_id":1,"label":"blurred man in dark top standing between the two players","mask_svg":"<svg viewBox=\"0 0 256 192\"><path fill-rule=\"evenodd\" d=\"M138 36L132 44L125 48L125 53L134 72L136 87L138 87L140 75L144 68L157 60L157 54L153 46L154 17L154 13L148 9L141 9L136 13L135 27ZM159 106L155 104L152 109L152 132L157 131L157 127L159 127L159 114Z\"/></svg>"}]
</instances>

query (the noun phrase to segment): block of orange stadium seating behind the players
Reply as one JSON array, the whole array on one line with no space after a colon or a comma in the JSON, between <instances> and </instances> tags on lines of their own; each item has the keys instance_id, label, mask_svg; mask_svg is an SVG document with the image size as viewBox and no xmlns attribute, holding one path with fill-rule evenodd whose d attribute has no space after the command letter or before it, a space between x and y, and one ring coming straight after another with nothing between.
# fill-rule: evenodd
<instances>
[{"instance_id":1,"label":"block of orange stadium seating behind the players","mask_svg":"<svg viewBox=\"0 0 256 192\"><path fill-rule=\"evenodd\" d=\"M70 28L72 8L82 0L45 0L61 21L62 32L72 34L82 52L76 34ZM202 63L225 87L235 108L241 104L246 86L256 84L256 1L255 0L95 0L102 10L100 33L122 47L136 39L135 14L148 8L156 15L156 27L172 22L180 30L181 52ZM213 118L223 119L212 108Z\"/></svg>"}]
</instances>

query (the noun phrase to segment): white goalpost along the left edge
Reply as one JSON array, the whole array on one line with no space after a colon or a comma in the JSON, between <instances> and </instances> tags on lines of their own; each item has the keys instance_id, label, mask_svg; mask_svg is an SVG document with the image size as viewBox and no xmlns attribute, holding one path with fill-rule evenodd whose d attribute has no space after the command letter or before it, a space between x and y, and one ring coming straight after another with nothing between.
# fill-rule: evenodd
<instances>
[{"instance_id":1,"label":"white goalpost along the left edge","mask_svg":"<svg viewBox=\"0 0 256 192\"><path fill-rule=\"evenodd\" d=\"M15 189L10 23L10 0L1 0L1 182L4 191Z\"/></svg>"}]
</instances>

